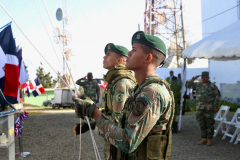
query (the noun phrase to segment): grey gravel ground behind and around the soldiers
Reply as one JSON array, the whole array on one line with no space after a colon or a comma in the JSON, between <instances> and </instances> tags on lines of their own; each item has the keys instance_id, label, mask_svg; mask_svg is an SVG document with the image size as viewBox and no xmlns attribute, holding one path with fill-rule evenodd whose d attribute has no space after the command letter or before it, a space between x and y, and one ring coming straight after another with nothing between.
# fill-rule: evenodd
<instances>
[{"instance_id":1,"label":"grey gravel ground behind and around the soldiers","mask_svg":"<svg viewBox=\"0 0 240 160\"><path fill-rule=\"evenodd\" d=\"M233 114L228 114L231 120ZM72 128L78 123L73 110L46 110L41 114L31 113L24 122L23 151L31 152L26 160L76 160L79 157L79 137L73 135ZM232 130L232 132L234 129ZM94 137L103 159L104 140L96 133ZM182 129L173 134L172 155L169 160L239 160L240 144L229 143L230 138L222 140L219 133L213 139L213 146L199 146L200 129L195 113L182 118ZM16 152L19 152L18 138ZM8 159L8 150L0 148L0 160ZM18 158L17 158L18 159ZM82 134L82 159L95 159L89 132Z\"/></svg>"}]
</instances>

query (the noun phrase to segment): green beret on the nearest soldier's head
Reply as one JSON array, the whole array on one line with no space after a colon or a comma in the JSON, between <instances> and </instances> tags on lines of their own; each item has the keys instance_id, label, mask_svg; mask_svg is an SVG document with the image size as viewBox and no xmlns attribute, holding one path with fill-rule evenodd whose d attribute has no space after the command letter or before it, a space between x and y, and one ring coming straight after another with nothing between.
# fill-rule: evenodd
<instances>
[{"instance_id":1,"label":"green beret on the nearest soldier's head","mask_svg":"<svg viewBox=\"0 0 240 160\"><path fill-rule=\"evenodd\" d=\"M133 43L141 43L154 48L166 57L166 45L156 36L145 34L143 31L138 31L132 36L132 45Z\"/></svg>"}]
</instances>

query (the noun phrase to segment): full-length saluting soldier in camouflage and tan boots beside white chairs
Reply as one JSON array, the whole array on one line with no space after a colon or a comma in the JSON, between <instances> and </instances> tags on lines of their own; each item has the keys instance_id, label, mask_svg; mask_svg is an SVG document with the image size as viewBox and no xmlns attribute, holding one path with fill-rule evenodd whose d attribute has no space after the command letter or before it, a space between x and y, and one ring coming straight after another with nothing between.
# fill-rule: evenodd
<instances>
[{"instance_id":1,"label":"full-length saluting soldier in camouflage and tan boots beside white chairs","mask_svg":"<svg viewBox=\"0 0 240 160\"><path fill-rule=\"evenodd\" d=\"M209 72L202 72L203 83L194 83L199 76L187 81L186 85L188 88L192 87L196 90L196 118L202 134L202 140L198 142L198 145L211 146L215 123L214 108L218 108L220 95L217 86L209 81Z\"/></svg>"}]
</instances>

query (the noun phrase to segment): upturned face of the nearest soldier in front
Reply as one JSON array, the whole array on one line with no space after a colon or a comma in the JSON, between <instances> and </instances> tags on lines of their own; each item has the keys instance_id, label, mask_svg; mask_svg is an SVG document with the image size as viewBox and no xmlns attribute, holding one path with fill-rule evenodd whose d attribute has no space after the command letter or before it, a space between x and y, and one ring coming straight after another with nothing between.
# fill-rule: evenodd
<instances>
[{"instance_id":1,"label":"upturned face of the nearest soldier in front","mask_svg":"<svg viewBox=\"0 0 240 160\"><path fill-rule=\"evenodd\" d=\"M148 54L144 54L140 43L134 43L132 50L128 52L126 68L136 71L141 69L145 63Z\"/></svg>"}]
</instances>

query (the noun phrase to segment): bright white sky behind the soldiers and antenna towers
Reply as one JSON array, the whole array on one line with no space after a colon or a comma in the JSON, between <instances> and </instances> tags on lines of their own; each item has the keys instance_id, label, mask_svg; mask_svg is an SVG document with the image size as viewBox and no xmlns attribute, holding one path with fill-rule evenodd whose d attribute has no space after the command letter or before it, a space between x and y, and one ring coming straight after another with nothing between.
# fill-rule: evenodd
<instances>
[{"instance_id":1,"label":"bright white sky behind the soldiers and antenna towers","mask_svg":"<svg viewBox=\"0 0 240 160\"><path fill-rule=\"evenodd\" d=\"M45 1L54 26L62 30L62 22L57 21L55 16L57 8L62 8L62 0ZM0 0L0 3L15 18L51 66L55 70L61 71L62 69L34 1ZM43 2L37 0L37 3L52 40L53 29ZM202 38L201 2L200 0L183 0L183 6L187 40L194 43ZM70 65L75 81L85 76L87 72L93 72L95 78L102 78L102 75L107 72L102 68L105 45L114 43L125 46L130 50L131 37L138 30L138 24L140 24L140 29L143 30L145 0L68 0L67 9L71 16L68 31L73 37L69 48L72 49L74 55L71 58ZM12 21L1 7L0 19L0 26ZM22 44L23 59L28 65L30 78L35 78L36 68L40 65L40 62L43 63L45 71L50 71L55 78L56 74L26 40L14 22L12 23L12 29L14 37L16 37L16 43ZM59 46L54 44L54 47L62 63Z\"/></svg>"}]
</instances>

